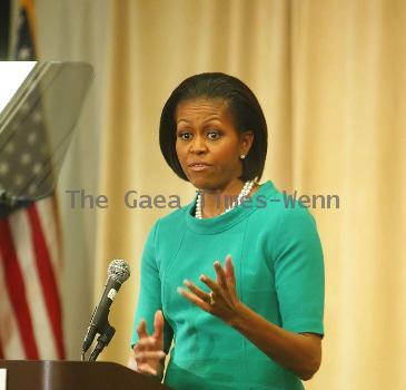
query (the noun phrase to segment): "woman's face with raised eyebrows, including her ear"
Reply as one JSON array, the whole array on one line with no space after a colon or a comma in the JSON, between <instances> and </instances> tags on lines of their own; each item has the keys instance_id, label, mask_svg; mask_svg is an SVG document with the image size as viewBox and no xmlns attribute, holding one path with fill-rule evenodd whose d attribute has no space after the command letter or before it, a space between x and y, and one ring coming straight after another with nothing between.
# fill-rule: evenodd
<instances>
[{"instance_id":1,"label":"woman's face with raised eyebrows, including her ear","mask_svg":"<svg viewBox=\"0 0 406 390\"><path fill-rule=\"evenodd\" d=\"M176 113L176 152L189 182L199 189L226 188L242 173L252 133L239 134L224 99L180 101Z\"/></svg>"}]
</instances>

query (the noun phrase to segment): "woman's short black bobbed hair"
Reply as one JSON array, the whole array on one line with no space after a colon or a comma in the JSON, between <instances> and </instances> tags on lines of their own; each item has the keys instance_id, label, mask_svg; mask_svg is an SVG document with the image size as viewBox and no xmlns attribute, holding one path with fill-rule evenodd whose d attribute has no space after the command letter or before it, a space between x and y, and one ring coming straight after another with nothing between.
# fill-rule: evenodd
<instances>
[{"instance_id":1,"label":"woman's short black bobbed hair","mask_svg":"<svg viewBox=\"0 0 406 390\"><path fill-rule=\"evenodd\" d=\"M180 101L211 98L224 99L239 133L251 130L254 140L242 160L240 179L258 181L263 176L268 148L268 130L265 116L254 92L238 78L221 72L205 72L188 77L172 91L164 106L159 125L159 145L172 170L188 181L176 153L176 109Z\"/></svg>"}]
</instances>

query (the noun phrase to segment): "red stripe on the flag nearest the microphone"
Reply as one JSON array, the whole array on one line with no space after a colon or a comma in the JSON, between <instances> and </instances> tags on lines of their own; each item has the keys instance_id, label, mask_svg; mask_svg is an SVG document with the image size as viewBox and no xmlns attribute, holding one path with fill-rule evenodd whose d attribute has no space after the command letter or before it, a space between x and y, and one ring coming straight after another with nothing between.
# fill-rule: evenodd
<instances>
[{"instance_id":1,"label":"red stripe on the flag nearest the microphone","mask_svg":"<svg viewBox=\"0 0 406 390\"><path fill-rule=\"evenodd\" d=\"M36 204L28 207L31 236L36 256L37 270L41 281L43 298L46 301L48 315L51 320L53 339L58 350L59 359L65 359L65 348L62 338L62 315L59 300L57 281L55 277L52 262L43 237L41 223L38 216Z\"/></svg>"}]
</instances>

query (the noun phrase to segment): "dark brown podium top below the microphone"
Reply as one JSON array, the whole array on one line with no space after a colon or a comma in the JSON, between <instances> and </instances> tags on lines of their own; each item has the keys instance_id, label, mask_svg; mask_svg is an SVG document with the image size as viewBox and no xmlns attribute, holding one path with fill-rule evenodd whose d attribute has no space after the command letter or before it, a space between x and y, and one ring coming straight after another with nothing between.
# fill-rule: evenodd
<instances>
[{"instance_id":1,"label":"dark brown podium top below the microphone","mask_svg":"<svg viewBox=\"0 0 406 390\"><path fill-rule=\"evenodd\" d=\"M0 360L7 390L169 390L155 378L109 362Z\"/></svg>"}]
</instances>

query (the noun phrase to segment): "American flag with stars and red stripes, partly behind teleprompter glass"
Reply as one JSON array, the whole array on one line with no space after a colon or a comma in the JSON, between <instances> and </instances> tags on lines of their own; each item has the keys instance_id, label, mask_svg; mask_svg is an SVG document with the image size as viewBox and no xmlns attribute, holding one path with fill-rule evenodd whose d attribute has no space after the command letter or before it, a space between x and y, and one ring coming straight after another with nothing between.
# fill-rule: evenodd
<instances>
[{"instance_id":1,"label":"American flag with stars and red stripes, partly behind teleprompter glass","mask_svg":"<svg viewBox=\"0 0 406 390\"><path fill-rule=\"evenodd\" d=\"M18 60L34 60L33 3L21 1ZM0 133L0 189L36 197L51 188L41 105L22 106ZM0 207L0 359L65 359L57 202Z\"/></svg>"}]
</instances>

